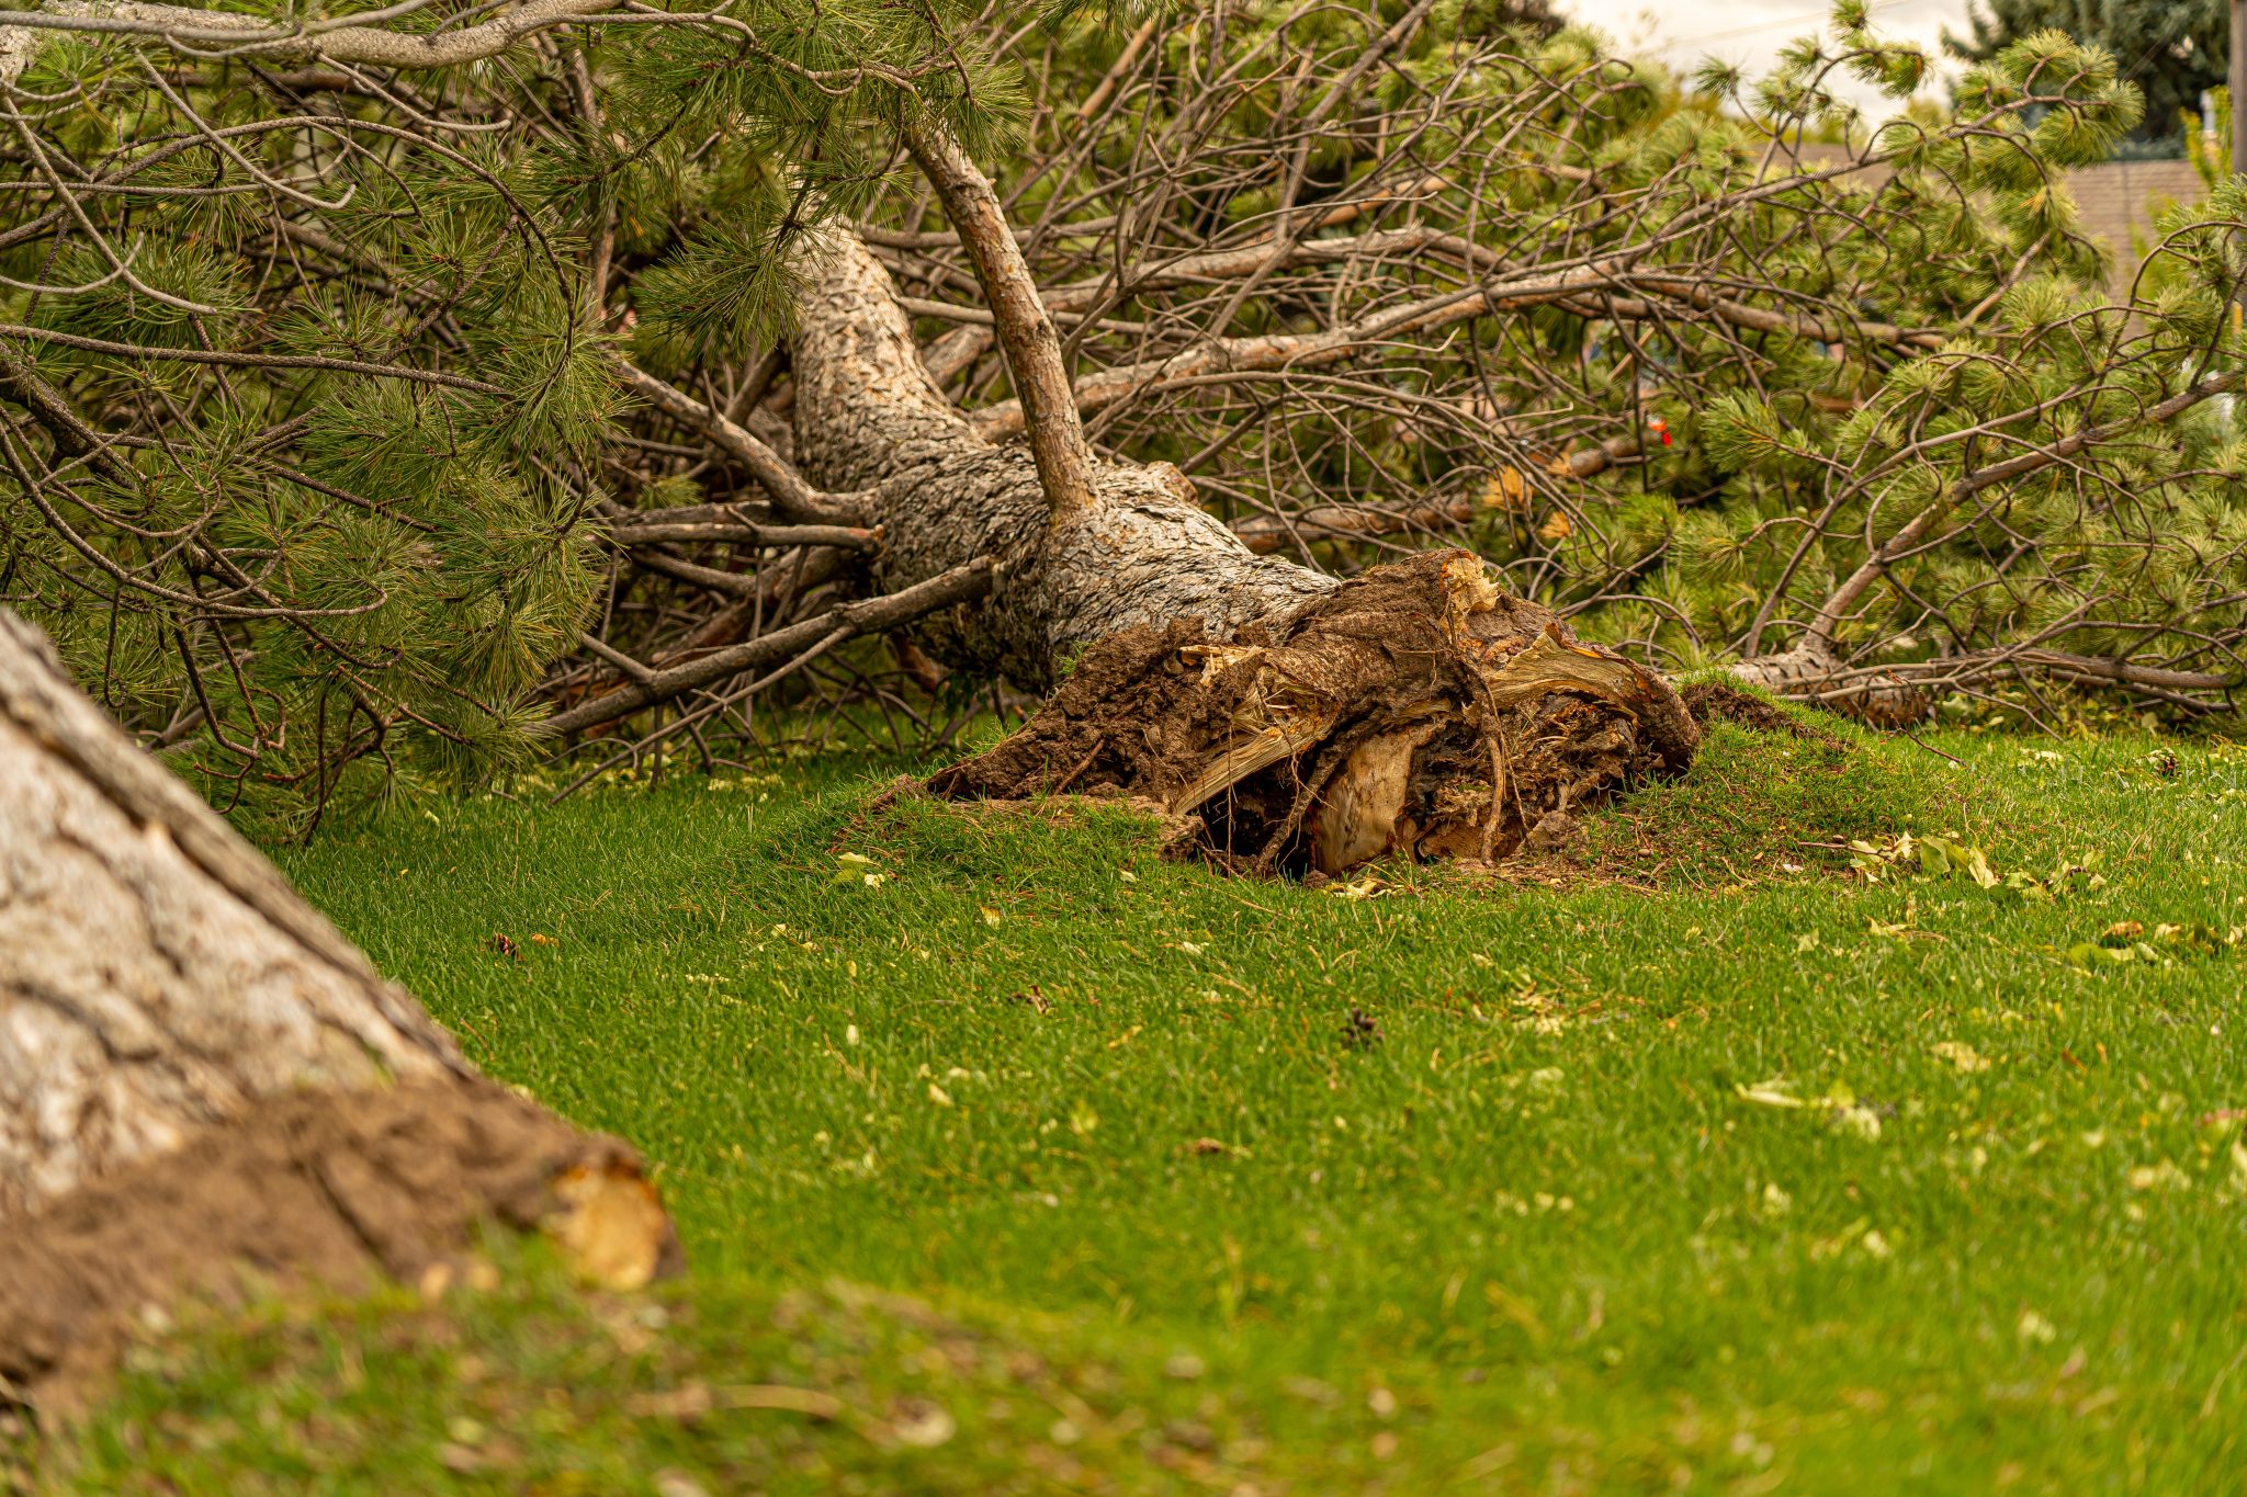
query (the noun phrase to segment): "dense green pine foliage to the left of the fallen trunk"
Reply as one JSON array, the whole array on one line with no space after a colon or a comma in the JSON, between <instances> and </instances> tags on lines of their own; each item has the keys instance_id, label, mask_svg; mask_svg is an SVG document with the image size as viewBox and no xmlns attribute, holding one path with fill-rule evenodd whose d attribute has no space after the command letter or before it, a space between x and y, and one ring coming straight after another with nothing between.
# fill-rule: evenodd
<instances>
[{"instance_id":1,"label":"dense green pine foliage to the left of the fallen trunk","mask_svg":"<svg viewBox=\"0 0 2247 1497\"><path fill-rule=\"evenodd\" d=\"M625 406L584 292L604 224L631 343L676 373L784 330L804 229L892 182L908 94L984 150L1020 119L953 4L728 16L548 34L454 76L130 38L29 65L0 166L22 375L0 599L222 806L297 833L539 752L535 689L613 570L593 530ZM586 47L598 123L568 88Z\"/></svg>"}]
</instances>

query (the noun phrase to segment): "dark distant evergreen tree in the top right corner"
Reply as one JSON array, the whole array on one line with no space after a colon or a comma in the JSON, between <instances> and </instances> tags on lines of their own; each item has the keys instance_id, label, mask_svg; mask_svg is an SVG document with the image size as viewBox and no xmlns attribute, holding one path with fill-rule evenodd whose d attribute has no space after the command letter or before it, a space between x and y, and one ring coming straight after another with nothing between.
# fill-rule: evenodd
<instances>
[{"instance_id":1,"label":"dark distant evergreen tree in the top right corner","mask_svg":"<svg viewBox=\"0 0 2247 1497\"><path fill-rule=\"evenodd\" d=\"M2146 117L2130 139L2171 157L2184 155L2180 121L2200 119L2200 94L2222 85L2231 54L2227 0L1975 0L1966 27L1966 36L1946 29L1944 49L1968 63L1986 63L2038 31L2105 47L2117 76L2146 94Z\"/></svg>"}]
</instances>

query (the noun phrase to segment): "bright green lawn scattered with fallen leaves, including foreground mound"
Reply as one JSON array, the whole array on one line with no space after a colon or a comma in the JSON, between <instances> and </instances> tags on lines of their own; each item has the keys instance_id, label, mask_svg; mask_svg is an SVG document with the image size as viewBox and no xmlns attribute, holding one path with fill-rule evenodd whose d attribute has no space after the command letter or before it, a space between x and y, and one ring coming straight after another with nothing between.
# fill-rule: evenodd
<instances>
[{"instance_id":1,"label":"bright green lawn scattered with fallen leaves, including foreground mound","mask_svg":"<svg viewBox=\"0 0 2247 1497\"><path fill-rule=\"evenodd\" d=\"M2247 759L1831 732L1721 727L1559 887L867 761L333 835L288 873L692 1275L229 1317L45 1481L2247 1490Z\"/></svg>"}]
</instances>

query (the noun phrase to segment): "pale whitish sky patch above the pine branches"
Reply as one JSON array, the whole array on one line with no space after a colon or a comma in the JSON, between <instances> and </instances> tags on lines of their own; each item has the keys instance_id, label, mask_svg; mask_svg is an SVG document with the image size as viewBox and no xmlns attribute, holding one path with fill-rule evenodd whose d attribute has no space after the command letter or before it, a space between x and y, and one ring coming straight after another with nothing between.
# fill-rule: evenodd
<instances>
[{"instance_id":1,"label":"pale whitish sky patch above the pine branches","mask_svg":"<svg viewBox=\"0 0 2247 1497\"><path fill-rule=\"evenodd\" d=\"M1766 72L1780 47L1822 29L1831 13L1818 0L1559 0L1555 9L1600 27L1627 54L1658 56L1679 72L1714 54L1746 65L1750 74ZM1944 27L1966 31L1966 0L1874 0L1872 25L1939 58ZM1892 108L1854 79L1834 83L1874 117Z\"/></svg>"}]
</instances>

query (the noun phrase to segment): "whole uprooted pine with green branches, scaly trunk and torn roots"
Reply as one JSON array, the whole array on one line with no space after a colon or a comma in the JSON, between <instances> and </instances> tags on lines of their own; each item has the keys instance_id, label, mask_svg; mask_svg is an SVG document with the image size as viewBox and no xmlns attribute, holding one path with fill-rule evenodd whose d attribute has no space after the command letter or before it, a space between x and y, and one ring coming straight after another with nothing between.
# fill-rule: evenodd
<instances>
[{"instance_id":1,"label":"whole uprooted pine with green branches, scaly trunk and torn roots","mask_svg":"<svg viewBox=\"0 0 2247 1497\"><path fill-rule=\"evenodd\" d=\"M1831 74L1926 58L1863 4L1690 88L1431 0L393 20L52 0L0 45L72 101L0 215L47 276L0 328L9 597L276 830L773 709L948 741L933 698L1137 631L1207 678L1180 743L1121 747L1177 707L1141 671L946 783L1207 788L1258 866L1499 855L1685 761L1663 671L2229 707L2238 202L2108 296L2058 191L2135 119L2094 49L1865 130ZM117 251L151 204L162 274Z\"/></svg>"}]
</instances>

